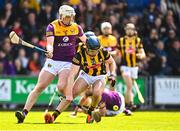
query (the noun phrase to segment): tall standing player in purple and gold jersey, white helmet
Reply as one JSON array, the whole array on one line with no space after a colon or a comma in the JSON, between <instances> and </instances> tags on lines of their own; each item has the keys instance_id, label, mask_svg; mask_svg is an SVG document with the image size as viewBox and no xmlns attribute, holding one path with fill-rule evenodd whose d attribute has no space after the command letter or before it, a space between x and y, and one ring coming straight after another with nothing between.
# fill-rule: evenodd
<instances>
[{"instance_id":1,"label":"tall standing player in purple and gold jersey, white helmet","mask_svg":"<svg viewBox=\"0 0 180 131\"><path fill-rule=\"evenodd\" d=\"M57 88L65 96L68 96L67 77L71 67L71 61L76 53L76 38L82 42L86 36L81 27L74 23L75 11L71 6L63 5L59 8L59 19L51 22L46 29L47 60L42 68L35 88L29 94L22 112L17 111L15 116L18 123L23 123L28 112L35 104L41 92L58 75ZM68 97L66 97L68 99Z\"/></svg>"}]
</instances>

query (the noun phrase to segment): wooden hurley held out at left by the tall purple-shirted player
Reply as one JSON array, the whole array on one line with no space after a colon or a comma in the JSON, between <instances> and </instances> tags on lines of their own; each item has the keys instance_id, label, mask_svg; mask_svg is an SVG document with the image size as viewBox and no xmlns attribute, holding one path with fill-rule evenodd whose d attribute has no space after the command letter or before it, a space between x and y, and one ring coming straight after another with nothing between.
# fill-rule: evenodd
<instances>
[{"instance_id":1,"label":"wooden hurley held out at left by the tall purple-shirted player","mask_svg":"<svg viewBox=\"0 0 180 131\"><path fill-rule=\"evenodd\" d=\"M14 31L11 31L11 33L9 34L9 38L13 44L24 45L26 47L33 48L33 49L39 50L44 53L48 53L48 51L22 40L21 38L19 38L19 36Z\"/></svg>"}]
</instances>

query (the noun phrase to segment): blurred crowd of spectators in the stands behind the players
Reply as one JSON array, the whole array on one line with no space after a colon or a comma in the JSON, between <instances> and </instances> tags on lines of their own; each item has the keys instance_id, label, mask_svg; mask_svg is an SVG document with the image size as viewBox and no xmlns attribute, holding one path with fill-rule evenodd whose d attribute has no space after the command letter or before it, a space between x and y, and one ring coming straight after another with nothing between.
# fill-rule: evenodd
<instances>
[{"instance_id":1,"label":"blurred crowd of spectators in the stands behind the players","mask_svg":"<svg viewBox=\"0 0 180 131\"><path fill-rule=\"evenodd\" d=\"M8 34L13 30L25 41L45 48L46 27L59 17L62 4L75 8L75 21L84 31L100 35L100 24L109 21L118 41L124 25L134 23L147 55L139 63L140 74L180 75L178 0L0 0L1 75L38 75L44 54L10 44Z\"/></svg>"}]
</instances>

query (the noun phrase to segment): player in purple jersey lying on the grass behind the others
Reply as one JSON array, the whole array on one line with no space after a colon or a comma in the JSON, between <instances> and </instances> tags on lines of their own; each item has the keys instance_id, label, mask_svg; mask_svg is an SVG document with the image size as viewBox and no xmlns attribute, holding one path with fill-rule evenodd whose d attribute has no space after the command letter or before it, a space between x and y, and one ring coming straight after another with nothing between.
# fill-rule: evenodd
<instances>
[{"instance_id":1,"label":"player in purple jersey lying on the grass behind the others","mask_svg":"<svg viewBox=\"0 0 180 131\"><path fill-rule=\"evenodd\" d=\"M78 109L82 109L85 113L91 104L91 90L87 90L79 101L79 104L75 108L74 113L71 116L76 116ZM101 101L99 102L98 109L101 116L115 116L122 112L125 115L130 116L132 112L125 108L124 96L117 92L105 89L102 93Z\"/></svg>"}]
</instances>

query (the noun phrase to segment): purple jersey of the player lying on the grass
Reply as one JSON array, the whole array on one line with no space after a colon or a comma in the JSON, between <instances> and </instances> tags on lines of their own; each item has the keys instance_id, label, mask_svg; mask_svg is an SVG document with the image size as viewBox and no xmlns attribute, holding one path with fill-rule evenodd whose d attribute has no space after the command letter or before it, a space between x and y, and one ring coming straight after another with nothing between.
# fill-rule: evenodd
<instances>
[{"instance_id":1,"label":"purple jersey of the player lying on the grass","mask_svg":"<svg viewBox=\"0 0 180 131\"><path fill-rule=\"evenodd\" d=\"M115 91L104 91L102 94L101 102L104 102L106 109L117 111L122 105L121 97L118 92Z\"/></svg>"}]
</instances>

